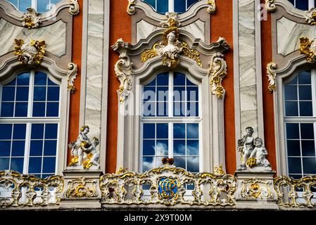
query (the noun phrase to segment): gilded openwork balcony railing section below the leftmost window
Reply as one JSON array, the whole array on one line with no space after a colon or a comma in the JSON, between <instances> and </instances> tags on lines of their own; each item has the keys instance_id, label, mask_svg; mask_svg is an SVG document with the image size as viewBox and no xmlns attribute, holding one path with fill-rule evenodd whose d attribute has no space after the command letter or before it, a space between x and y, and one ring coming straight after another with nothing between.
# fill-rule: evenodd
<instances>
[{"instance_id":1,"label":"gilded openwork balcony railing section below the leftmost window","mask_svg":"<svg viewBox=\"0 0 316 225\"><path fill-rule=\"evenodd\" d=\"M63 185L62 176L39 179L12 170L0 171L0 207L59 205Z\"/></svg>"}]
</instances>

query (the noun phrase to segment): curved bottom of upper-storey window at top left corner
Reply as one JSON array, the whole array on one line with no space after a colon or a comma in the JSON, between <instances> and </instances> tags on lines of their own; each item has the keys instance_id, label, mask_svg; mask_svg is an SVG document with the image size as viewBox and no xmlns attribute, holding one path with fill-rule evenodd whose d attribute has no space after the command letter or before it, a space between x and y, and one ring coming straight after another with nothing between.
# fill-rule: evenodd
<instances>
[{"instance_id":1,"label":"curved bottom of upper-storey window at top left corner","mask_svg":"<svg viewBox=\"0 0 316 225\"><path fill-rule=\"evenodd\" d=\"M38 13L50 11L61 0L7 0L19 11L26 12L29 7L35 8Z\"/></svg>"}]
</instances>

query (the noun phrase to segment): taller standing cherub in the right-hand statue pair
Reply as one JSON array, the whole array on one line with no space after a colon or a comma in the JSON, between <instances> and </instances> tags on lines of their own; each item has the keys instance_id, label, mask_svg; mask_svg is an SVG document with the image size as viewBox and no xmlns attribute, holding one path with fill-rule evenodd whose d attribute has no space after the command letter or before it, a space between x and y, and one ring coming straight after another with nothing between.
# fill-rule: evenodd
<instances>
[{"instance_id":1,"label":"taller standing cherub in the right-hand statue pair","mask_svg":"<svg viewBox=\"0 0 316 225\"><path fill-rule=\"evenodd\" d=\"M238 140L237 150L241 152L241 165L239 169L247 169L246 162L253 151L253 128L246 127L246 135Z\"/></svg>"}]
</instances>

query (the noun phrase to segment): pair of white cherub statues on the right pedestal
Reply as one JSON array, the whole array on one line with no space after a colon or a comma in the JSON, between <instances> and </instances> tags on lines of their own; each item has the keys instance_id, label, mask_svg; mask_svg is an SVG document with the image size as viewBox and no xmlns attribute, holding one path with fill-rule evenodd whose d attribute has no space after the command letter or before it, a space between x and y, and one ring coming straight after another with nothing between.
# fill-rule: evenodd
<instances>
[{"instance_id":1,"label":"pair of white cherub statues on the right pedestal","mask_svg":"<svg viewBox=\"0 0 316 225\"><path fill-rule=\"evenodd\" d=\"M267 149L263 146L263 140L253 138L253 128L246 127L246 135L238 140L237 150L241 153L241 165L239 170L252 169L272 171L270 162L266 159Z\"/></svg>"}]
</instances>

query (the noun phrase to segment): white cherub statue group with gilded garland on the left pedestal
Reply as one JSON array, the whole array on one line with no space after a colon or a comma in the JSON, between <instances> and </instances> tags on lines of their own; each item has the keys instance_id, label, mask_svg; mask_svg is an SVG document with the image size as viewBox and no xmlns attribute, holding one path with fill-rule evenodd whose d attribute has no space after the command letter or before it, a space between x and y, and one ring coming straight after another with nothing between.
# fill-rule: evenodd
<instances>
[{"instance_id":1,"label":"white cherub statue group with gilded garland on the left pedestal","mask_svg":"<svg viewBox=\"0 0 316 225\"><path fill-rule=\"evenodd\" d=\"M91 141L87 136L88 133L89 126L82 126L77 141L68 144L68 148L71 148L70 154L74 156L68 165L70 169L100 168L100 153L99 149L96 148L99 145L99 139L94 137Z\"/></svg>"}]
</instances>

